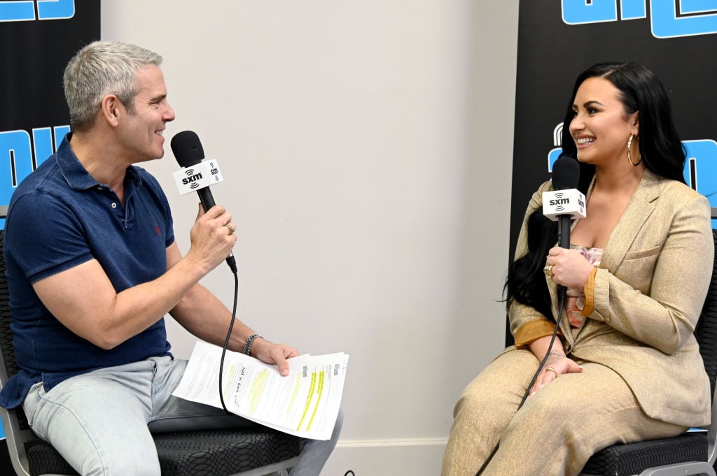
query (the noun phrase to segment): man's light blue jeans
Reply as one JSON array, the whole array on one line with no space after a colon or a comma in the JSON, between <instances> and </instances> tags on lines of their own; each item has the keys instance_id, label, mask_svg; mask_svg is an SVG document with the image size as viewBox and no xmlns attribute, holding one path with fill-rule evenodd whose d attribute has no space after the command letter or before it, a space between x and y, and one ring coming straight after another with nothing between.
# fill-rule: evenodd
<instances>
[{"instance_id":1,"label":"man's light blue jeans","mask_svg":"<svg viewBox=\"0 0 717 476\"><path fill-rule=\"evenodd\" d=\"M172 397L186 360L153 357L72 377L44 392L30 389L23 407L35 433L82 476L159 476L151 432L256 427L209 405ZM305 439L291 476L318 476L341 432Z\"/></svg>"}]
</instances>

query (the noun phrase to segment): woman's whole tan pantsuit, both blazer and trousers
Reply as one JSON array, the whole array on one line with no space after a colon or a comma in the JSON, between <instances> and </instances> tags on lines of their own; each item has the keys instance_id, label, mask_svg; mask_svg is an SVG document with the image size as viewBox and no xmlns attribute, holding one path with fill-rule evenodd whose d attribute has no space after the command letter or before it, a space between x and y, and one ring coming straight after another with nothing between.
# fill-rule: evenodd
<instances>
[{"instance_id":1,"label":"woman's whole tan pantsuit, both blazer and trousers","mask_svg":"<svg viewBox=\"0 0 717 476\"><path fill-rule=\"evenodd\" d=\"M526 219L550 189L533 195ZM527 250L524 221L516 256ZM594 310L580 329L560 325L564 350L584 371L559 376L516 413L539 362L527 349L503 351L455 407L442 475L475 475L499 438L484 476L578 475L614 442L707 424L710 387L693 331L713 253L706 198L646 170L604 248ZM546 279L557 316L556 284ZM516 302L508 316L513 334L544 319Z\"/></svg>"}]
</instances>

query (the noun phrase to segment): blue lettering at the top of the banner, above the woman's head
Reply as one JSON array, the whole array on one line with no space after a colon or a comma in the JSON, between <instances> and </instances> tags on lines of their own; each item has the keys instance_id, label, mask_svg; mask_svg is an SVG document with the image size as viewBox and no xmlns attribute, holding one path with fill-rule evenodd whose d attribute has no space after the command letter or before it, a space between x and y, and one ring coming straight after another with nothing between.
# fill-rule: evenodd
<instances>
[{"instance_id":1,"label":"blue lettering at the top of the banner, above the woman's head","mask_svg":"<svg viewBox=\"0 0 717 476\"><path fill-rule=\"evenodd\" d=\"M655 38L717 33L717 0L649 1ZM563 21L569 25L647 18L647 0L561 0L561 3Z\"/></svg>"}]
</instances>

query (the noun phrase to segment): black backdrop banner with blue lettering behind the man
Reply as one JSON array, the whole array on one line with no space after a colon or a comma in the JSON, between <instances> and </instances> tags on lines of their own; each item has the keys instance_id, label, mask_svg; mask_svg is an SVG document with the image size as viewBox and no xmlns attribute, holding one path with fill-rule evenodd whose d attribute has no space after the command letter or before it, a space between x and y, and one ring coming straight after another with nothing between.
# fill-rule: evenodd
<instances>
[{"instance_id":1,"label":"black backdrop banner with blue lettering behind the man","mask_svg":"<svg viewBox=\"0 0 717 476\"><path fill-rule=\"evenodd\" d=\"M0 211L70 130L62 74L75 52L95 39L100 1L0 1ZM0 229L4 225L0 218ZM0 474L14 474L4 441Z\"/></svg>"}]
</instances>

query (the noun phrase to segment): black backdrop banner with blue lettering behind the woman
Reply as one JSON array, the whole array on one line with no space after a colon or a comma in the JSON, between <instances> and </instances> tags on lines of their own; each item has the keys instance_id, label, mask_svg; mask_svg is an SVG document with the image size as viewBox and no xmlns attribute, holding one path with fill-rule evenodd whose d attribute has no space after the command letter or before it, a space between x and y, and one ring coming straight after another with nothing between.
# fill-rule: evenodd
<instances>
[{"instance_id":1,"label":"black backdrop banner with blue lettering behind the woman","mask_svg":"<svg viewBox=\"0 0 717 476\"><path fill-rule=\"evenodd\" d=\"M716 50L717 0L520 2L511 260L528 201L561 151L575 78L597 62L637 62L657 74L688 147L685 179L717 207Z\"/></svg>"}]
</instances>

